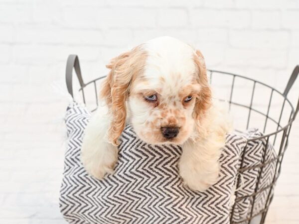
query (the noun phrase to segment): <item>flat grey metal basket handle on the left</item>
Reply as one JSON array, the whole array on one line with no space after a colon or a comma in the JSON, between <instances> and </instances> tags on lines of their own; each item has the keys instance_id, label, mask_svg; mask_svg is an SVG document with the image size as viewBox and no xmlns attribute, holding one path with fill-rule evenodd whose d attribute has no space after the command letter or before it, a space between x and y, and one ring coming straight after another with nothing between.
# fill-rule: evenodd
<instances>
[{"instance_id":1,"label":"flat grey metal basket handle on the left","mask_svg":"<svg viewBox=\"0 0 299 224\"><path fill-rule=\"evenodd\" d=\"M67 63L66 63L66 70L65 70L65 81L66 81L66 87L67 91L69 94L73 96L73 68L75 69L75 72L77 74L77 78L79 80L81 88L85 86L82 75L81 75L81 70L80 70L80 63L79 63L79 58L75 54L70 54L67 58Z\"/></svg>"}]
</instances>

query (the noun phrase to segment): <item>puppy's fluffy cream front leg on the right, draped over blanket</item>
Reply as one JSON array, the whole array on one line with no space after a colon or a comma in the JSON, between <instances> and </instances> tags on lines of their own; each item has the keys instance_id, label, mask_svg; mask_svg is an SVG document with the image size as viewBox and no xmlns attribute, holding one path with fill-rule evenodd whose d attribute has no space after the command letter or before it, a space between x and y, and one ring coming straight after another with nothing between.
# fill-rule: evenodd
<instances>
[{"instance_id":1,"label":"puppy's fluffy cream front leg on the right, draped over blanket","mask_svg":"<svg viewBox=\"0 0 299 224\"><path fill-rule=\"evenodd\" d=\"M182 146L179 174L191 190L204 191L218 180L221 148L232 130L225 106L214 100L201 124L201 133L194 130Z\"/></svg>"}]
</instances>

